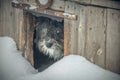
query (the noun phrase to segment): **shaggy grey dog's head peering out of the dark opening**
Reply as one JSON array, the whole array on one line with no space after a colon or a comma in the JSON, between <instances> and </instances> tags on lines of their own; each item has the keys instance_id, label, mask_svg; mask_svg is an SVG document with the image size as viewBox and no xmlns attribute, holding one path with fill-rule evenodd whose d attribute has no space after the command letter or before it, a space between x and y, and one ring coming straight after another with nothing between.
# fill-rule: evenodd
<instances>
[{"instance_id":1,"label":"shaggy grey dog's head peering out of the dark opening","mask_svg":"<svg viewBox=\"0 0 120 80\"><path fill-rule=\"evenodd\" d=\"M63 57L63 23L42 19L36 26L37 45L40 52L54 60Z\"/></svg>"}]
</instances>

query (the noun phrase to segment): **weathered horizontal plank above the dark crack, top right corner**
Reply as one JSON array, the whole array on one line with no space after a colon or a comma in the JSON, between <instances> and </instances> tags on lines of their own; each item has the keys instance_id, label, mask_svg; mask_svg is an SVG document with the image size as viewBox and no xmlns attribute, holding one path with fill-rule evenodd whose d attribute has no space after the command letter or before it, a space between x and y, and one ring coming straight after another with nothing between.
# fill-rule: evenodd
<instances>
[{"instance_id":1,"label":"weathered horizontal plank above the dark crack, top right corner","mask_svg":"<svg viewBox=\"0 0 120 80\"><path fill-rule=\"evenodd\" d=\"M120 1L113 0L68 0L85 6L95 6L120 10Z\"/></svg>"}]
</instances>

